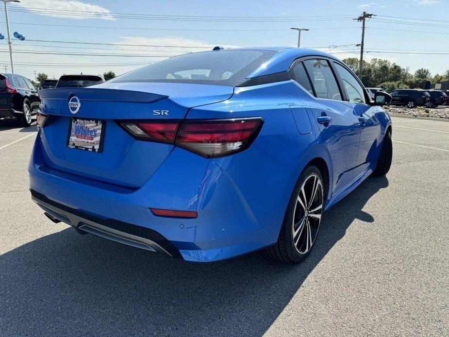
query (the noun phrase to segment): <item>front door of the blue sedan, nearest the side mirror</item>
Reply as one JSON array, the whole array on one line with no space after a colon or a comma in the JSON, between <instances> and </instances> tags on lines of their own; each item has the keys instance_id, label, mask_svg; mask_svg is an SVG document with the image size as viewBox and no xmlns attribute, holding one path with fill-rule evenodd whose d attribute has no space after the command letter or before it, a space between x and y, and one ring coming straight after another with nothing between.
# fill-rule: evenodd
<instances>
[{"instance_id":1,"label":"front door of the blue sedan, nearest the side mirror","mask_svg":"<svg viewBox=\"0 0 449 337\"><path fill-rule=\"evenodd\" d=\"M375 115L379 108L368 104L365 87L347 67L339 62L333 64L345 90L346 100L350 102L358 119L360 142L354 169L354 178L357 178L377 161L381 123Z\"/></svg>"}]
</instances>

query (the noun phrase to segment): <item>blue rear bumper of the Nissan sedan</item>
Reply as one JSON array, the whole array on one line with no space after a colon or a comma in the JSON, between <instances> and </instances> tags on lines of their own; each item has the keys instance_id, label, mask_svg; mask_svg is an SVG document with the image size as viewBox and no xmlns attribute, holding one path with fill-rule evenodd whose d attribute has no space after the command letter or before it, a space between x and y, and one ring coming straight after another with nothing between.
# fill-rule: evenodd
<instances>
[{"instance_id":1,"label":"blue rear bumper of the Nissan sedan","mask_svg":"<svg viewBox=\"0 0 449 337\"><path fill-rule=\"evenodd\" d=\"M276 242L296 179L289 167L265 152L256 147L249 151L257 153L208 160L176 148L145 185L126 189L48 168L38 134L28 168L30 188L45 212L82 232L133 246L131 241L142 245L148 239L143 244L157 252L187 261L218 261ZM248 169L253 166L264 169ZM275 179L272 172L278 173ZM264 198L267 191L269 198ZM277 202L267 204L271 200ZM150 207L195 210L198 218L157 217ZM142 236L142 231L152 236Z\"/></svg>"}]
</instances>

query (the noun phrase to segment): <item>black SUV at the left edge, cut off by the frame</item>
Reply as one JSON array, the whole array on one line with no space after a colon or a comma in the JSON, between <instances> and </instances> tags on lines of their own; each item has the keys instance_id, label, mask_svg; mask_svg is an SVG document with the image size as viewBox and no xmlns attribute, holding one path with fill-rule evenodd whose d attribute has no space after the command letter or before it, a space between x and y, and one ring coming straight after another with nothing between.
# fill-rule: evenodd
<instances>
[{"instance_id":1,"label":"black SUV at the left edge, cut off by the frame","mask_svg":"<svg viewBox=\"0 0 449 337\"><path fill-rule=\"evenodd\" d=\"M16 118L28 127L39 103L37 90L29 79L18 74L0 74L0 118Z\"/></svg>"}]
</instances>

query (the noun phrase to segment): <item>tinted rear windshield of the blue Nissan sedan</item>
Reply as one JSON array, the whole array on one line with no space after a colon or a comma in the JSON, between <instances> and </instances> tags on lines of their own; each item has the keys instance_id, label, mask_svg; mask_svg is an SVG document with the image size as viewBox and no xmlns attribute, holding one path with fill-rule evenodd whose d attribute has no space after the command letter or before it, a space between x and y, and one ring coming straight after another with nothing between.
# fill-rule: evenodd
<instances>
[{"instance_id":1,"label":"tinted rear windshield of the blue Nissan sedan","mask_svg":"<svg viewBox=\"0 0 449 337\"><path fill-rule=\"evenodd\" d=\"M109 82L174 82L235 86L275 51L221 50L184 54L150 64Z\"/></svg>"}]
</instances>

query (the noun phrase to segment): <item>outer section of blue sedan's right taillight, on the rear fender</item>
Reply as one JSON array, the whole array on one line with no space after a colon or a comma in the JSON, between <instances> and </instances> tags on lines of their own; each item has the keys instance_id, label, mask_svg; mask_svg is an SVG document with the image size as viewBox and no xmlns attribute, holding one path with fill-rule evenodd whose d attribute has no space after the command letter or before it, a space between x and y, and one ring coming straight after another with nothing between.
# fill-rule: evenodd
<instances>
[{"instance_id":1,"label":"outer section of blue sedan's right taillight, on the rear fender","mask_svg":"<svg viewBox=\"0 0 449 337\"><path fill-rule=\"evenodd\" d=\"M206 158L221 157L247 149L262 123L262 118L184 120L176 145Z\"/></svg>"}]
</instances>

